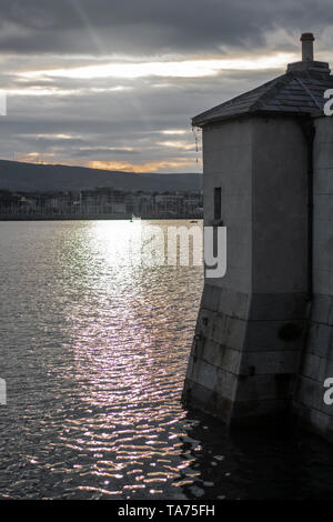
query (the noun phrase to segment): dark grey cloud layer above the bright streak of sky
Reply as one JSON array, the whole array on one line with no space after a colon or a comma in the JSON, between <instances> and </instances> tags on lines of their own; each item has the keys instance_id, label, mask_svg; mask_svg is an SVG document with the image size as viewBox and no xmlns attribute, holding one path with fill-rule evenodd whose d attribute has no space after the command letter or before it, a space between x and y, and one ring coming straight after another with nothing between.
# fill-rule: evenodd
<instances>
[{"instance_id":1,"label":"dark grey cloud layer above the bright streak of sky","mask_svg":"<svg viewBox=\"0 0 333 522\"><path fill-rule=\"evenodd\" d=\"M1 0L0 20L4 51L198 53L262 46L281 27L319 31L333 11L331 0Z\"/></svg>"}]
</instances>

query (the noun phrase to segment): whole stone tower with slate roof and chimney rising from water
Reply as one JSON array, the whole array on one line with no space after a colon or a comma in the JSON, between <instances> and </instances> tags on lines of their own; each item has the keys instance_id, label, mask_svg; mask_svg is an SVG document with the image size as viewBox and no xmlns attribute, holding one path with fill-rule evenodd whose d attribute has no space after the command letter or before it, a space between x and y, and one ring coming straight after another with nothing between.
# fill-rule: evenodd
<instances>
[{"instance_id":1,"label":"whole stone tower with slate roof and chimney rising from water","mask_svg":"<svg viewBox=\"0 0 333 522\"><path fill-rule=\"evenodd\" d=\"M228 267L205 278L183 399L226 423L293 410L331 436L333 78L313 40L284 74L193 118L204 224L226 227Z\"/></svg>"}]
</instances>

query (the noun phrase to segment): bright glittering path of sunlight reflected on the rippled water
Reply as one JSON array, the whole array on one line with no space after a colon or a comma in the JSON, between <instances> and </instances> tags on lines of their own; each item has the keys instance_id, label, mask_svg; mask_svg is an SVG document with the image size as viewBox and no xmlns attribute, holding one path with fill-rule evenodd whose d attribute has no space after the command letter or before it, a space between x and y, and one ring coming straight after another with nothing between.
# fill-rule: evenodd
<instances>
[{"instance_id":1,"label":"bright glittering path of sunlight reflected on the rippled water","mask_svg":"<svg viewBox=\"0 0 333 522\"><path fill-rule=\"evenodd\" d=\"M173 426L185 415L179 399L191 329L175 310L176 300L183 305L185 298L190 309L192 303L174 270L130 262L128 248L140 250L141 228L140 221L94 222L89 231L93 289L88 278L82 290L92 292L87 301L92 308L71 308L68 337L85 382L81 401L93 418L75 448L99 459L93 475L121 483L121 491L134 494L150 488L150 494L162 494L151 486L182 474L172 463L182 448L180 436L186 434ZM201 269L196 272L200 281ZM198 289L191 291L198 304ZM112 489L110 482L104 489Z\"/></svg>"}]
</instances>

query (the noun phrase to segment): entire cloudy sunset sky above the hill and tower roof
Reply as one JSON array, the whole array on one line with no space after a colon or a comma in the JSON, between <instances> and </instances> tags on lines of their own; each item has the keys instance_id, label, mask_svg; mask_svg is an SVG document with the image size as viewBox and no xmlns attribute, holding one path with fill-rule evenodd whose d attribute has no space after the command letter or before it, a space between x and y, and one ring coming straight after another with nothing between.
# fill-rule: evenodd
<instances>
[{"instance_id":1,"label":"entire cloudy sunset sky above the hill and tower roof","mask_svg":"<svg viewBox=\"0 0 333 522\"><path fill-rule=\"evenodd\" d=\"M302 32L333 63L332 0L0 0L0 158L201 172L191 118L282 74Z\"/></svg>"}]
</instances>

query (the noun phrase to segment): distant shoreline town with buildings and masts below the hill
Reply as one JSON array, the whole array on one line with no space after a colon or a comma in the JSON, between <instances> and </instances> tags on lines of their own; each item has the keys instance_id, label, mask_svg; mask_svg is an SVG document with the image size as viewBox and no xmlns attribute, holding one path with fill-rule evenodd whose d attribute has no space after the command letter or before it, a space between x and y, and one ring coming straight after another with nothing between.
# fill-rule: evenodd
<instances>
[{"instance_id":1,"label":"distant shoreline town with buildings and masts below the hill","mask_svg":"<svg viewBox=\"0 0 333 522\"><path fill-rule=\"evenodd\" d=\"M0 221L80 219L201 219L202 190L143 192L113 188L81 191L0 190Z\"/></svg>"}]
</instances>

